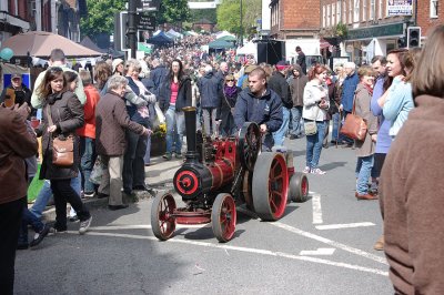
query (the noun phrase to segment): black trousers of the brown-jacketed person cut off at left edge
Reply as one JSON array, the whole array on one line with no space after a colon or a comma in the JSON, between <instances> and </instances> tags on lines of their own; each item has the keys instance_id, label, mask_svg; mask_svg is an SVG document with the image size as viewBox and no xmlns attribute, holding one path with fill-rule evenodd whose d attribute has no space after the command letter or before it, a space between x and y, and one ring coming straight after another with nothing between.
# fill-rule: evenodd
<instances>
[{"instance_id":1,"label":"black trousers of the brown-jacketed person cut off at left edge","mask_svg":"<svg viewBox=\"0 0 444 295\"><path fill-rule=\"evenodd\" d=\"M16 250L27 197L0 204L0 294L13 293Z\"/></svg>"}]
</instances>

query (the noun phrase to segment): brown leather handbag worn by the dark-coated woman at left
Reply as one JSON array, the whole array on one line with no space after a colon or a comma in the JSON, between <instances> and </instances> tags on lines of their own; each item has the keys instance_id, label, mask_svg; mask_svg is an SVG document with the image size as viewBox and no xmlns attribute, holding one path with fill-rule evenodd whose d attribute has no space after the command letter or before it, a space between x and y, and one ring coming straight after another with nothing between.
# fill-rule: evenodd
<instances>
[{"instance_id":1,"label":"brown leather handbag worn by the dark-coated woman at left","mask_svg":"<svg viewBox=\"0 0 444 295\"><path fill-rule=\"evenodd\" d=\"M51 106L47 106L47 116L52 126ZM52 139L52 164L68 167L74 164L74 138L72 135L59 135Z\"/></svg>"}]
</instances>

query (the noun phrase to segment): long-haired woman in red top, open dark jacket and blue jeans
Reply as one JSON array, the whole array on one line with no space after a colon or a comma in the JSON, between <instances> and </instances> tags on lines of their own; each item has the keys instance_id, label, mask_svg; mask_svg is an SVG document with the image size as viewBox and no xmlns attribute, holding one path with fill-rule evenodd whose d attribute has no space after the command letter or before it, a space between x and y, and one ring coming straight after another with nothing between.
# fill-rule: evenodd
<instances>
[{"instance_id":1,"label":"long-haired woman in red top, open dark jacket and blue jeans","mask_svg":"<svg viewBox=\"0 0 444 295\"><path fill-rule=\"evenodd\" d=\"M163 159L171 160L173 145L175 157L182 157L182 140L184 133L184 114L182 108L190 106L191 79L183 73L180 60L171 62L170 72L159 91L159 106L167 119L167 153Z\"/></svg>"}]
</instances>

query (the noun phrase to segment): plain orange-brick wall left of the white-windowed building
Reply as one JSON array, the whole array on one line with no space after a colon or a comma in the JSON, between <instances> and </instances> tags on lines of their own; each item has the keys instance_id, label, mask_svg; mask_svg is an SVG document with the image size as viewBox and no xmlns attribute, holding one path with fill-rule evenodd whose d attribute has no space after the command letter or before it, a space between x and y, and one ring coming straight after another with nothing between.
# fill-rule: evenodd
<instances>
[{"instance_id":1,"label":"plain orange-brick wall left of the white-windowed building","mask_svg":"<svg viewBox=\"0 0 444 295\"><path fill-rule=\"evenodd\" d=\"M285 40L319 37L319 0L272 0L270 8L271 38Z\"/></svg>"}]
</instances>

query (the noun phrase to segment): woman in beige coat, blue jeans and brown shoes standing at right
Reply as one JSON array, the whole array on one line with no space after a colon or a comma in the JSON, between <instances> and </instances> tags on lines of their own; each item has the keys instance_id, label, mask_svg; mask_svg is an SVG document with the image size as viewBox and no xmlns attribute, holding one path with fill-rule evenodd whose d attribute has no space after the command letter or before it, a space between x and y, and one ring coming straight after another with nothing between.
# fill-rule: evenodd
<instances>
[{"instance_id":1,"label":"woman in beige coat, blue jeans and brown shoes standing at right","mask_svg":"<svg viewBox=\"0 0 444 295\"><path fill-rule=\"evenodd\" d=\"M367 124L367 133L364 140L355 140L356 148L356 193L357 200L377 200L377 195L369 193L369 179L373 167L373 154L377 134L377 119L370 110L373 95L373 84L376 72L370 65L357 69L360 83L356 87L354 98L355 114Z\"/></svg>"}]
</instances>

